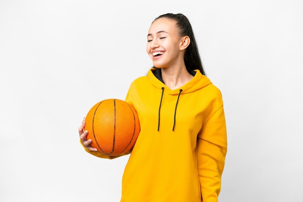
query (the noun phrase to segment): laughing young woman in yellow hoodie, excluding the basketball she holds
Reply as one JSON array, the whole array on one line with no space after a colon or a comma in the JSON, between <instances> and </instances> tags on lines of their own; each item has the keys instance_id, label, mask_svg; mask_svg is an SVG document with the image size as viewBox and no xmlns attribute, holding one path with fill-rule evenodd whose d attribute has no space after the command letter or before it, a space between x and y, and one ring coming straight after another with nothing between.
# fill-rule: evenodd
<instances>
[{"instance_id":1,"label":"laughing young woman in yellow hoodie, excluding the basketball she holds","mask_svg":"<svg viewBox=\"0 0 303 202\"><path fill-rule=\"evenodd\" d=\"M205 76L188 19L157 17L146 50L154 67L131 84L125 99L141 130L123 174L121 202L217 202L227 152L223 101ZM85 150L116 158L92 148L84 126Z\"/></svg>"}]
</instances>

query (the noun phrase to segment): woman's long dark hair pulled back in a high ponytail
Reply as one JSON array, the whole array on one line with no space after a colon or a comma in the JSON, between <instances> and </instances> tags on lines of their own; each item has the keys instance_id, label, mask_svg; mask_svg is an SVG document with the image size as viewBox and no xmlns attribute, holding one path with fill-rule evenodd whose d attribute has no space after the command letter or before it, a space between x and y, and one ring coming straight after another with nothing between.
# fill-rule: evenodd
<instances>
[{"instance_id":1,"label":"woman's long dark hair pulled back in a high ponytail","mask_svg":"<svg viewBox=\"0 0 303 202\"><path fill-rule=\"evenodd\" d=\"M190 72L191 70L199 70L203 75L205 75L194 32L187 17L183 14L168 13L160 15L159 17L154 19L153 22L163 17L175 20L179 29L179 35L188 36L190 38L190 44L186 48L184 54L184 63L187 71Z\"/></svg>"}]
</instances>

